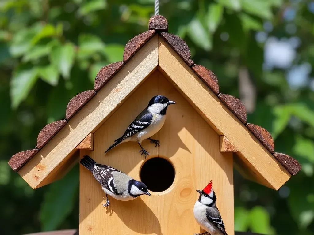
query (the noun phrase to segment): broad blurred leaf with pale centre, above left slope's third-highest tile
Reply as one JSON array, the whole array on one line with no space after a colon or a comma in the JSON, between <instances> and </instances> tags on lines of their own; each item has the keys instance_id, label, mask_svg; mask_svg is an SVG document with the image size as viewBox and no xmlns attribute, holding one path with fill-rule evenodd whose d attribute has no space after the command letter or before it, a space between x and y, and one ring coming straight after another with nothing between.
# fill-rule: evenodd
<instances>
[{"instance_id":1,"label":"broad blurred leaf with pale centre, above left slope's third-highest tile","mask_svg":"<svg viewBox=\"0 0 314 235\"><path fill-rule=\"evenodd\" d=\"M105 44L97 36L93 34L81 34L78 37L78 58L86 59L89 58L97 52L104 53Z\"/></svg>"}]
</instances>

